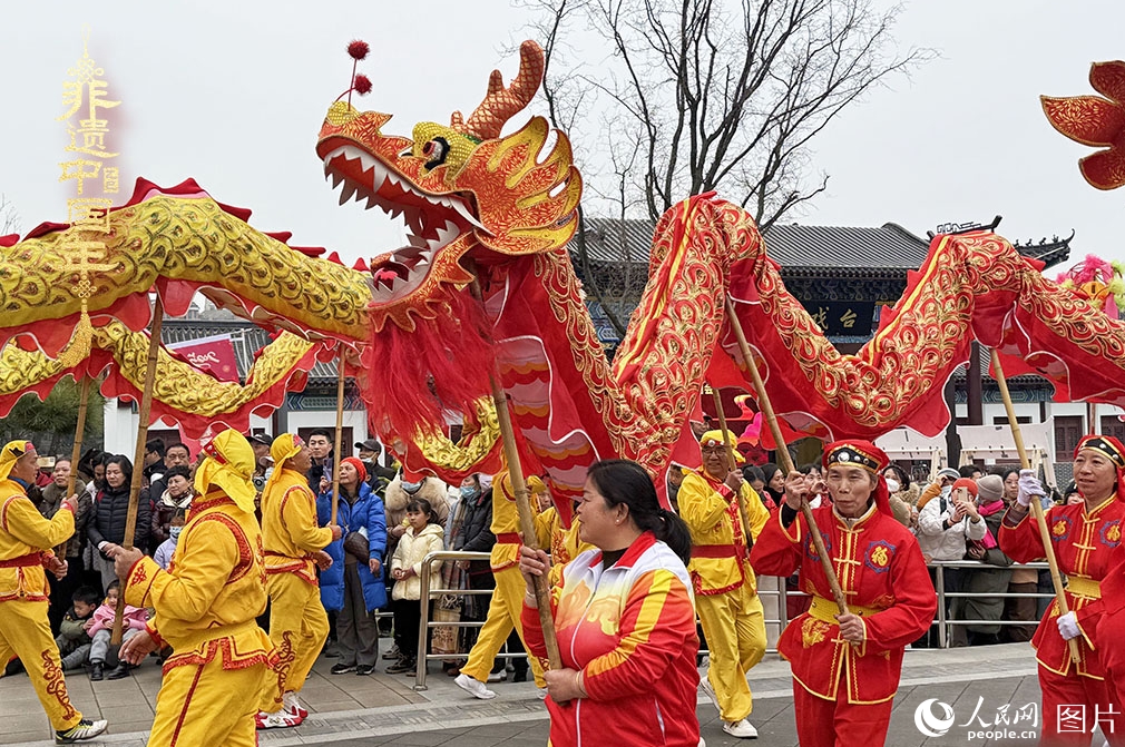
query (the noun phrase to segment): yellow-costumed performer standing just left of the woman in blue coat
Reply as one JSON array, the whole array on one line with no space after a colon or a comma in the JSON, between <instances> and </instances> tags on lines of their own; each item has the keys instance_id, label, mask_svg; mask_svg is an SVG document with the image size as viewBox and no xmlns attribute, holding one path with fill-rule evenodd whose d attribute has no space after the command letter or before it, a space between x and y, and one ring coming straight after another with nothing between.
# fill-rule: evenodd
<instances>
[{"instance_id":1,"label":"yellow-costumed performer standing just left of the woman in blue coat","mask_svg":"<svg viewBox=\"0 0 1125 747\"><path fill-rule=\"evenodd\" d=\"M341 537L339 526L317 526L316 496L305 477L312 454L302 438L282 433L273 440L270 456L273 474L262 489L262 539L270 639L281 666L279 686L262 694L259 729L296 727L308 716L297 693L328 637L316 568L332 565L324 548Z\"/></svg>"}]
</instances>

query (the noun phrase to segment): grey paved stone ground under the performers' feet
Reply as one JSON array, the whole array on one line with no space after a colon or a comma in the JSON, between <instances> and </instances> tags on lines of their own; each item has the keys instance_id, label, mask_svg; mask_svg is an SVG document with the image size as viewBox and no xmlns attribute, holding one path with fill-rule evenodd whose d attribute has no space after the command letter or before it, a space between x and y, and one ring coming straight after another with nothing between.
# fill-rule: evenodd
<instances>
[{"instance_id":1,"label":"grey paved stone ground under the performers' feet","mask_svg":"<svg viewBox=\"0 0 1125 747\"><path fill-rule=\"evenodd\" d=\"M297 729L260 732L263 747L289 745L457 745L458 747L541 747L546 744L548 722L538 692L531 683L490 685L498 698L475 701L452 683L452 678L431 663L428 688L415 692L413 677L376 674L370 677L328 674L334 659L322 658L305 685L303 699L309 718ZM380 663L380 669L382 663ZM111 734L87 744L141 747L152 724L153 703L160 688L160 668L154 660L117 682L91 683L81 674L68 676L75 704L89 716L109 719ZM755 693L752 721L758 728L757 744L764 747L796 745L792 709L792 681L789 665L776 655L750 673ZM953 708L954 726L942 737L926 738L915 726L920 703L937 699ZM1033 745L1036 740L994 739L974 736L960 724L973 719L993 724L997 709L1007 704L1009 714L1029 703L1038 720L1032 729L1037 735L1044 714L1038 713L1040 691L1035 663L1027 645L1014 644L951 650L907 651L906 665L888 745L896 747L989 747ZM940 714L936 706L936 714ZM701 700L699 717L702 735L710 747L748 744L722 731L714 708ZM43 710L22 675L0 680L0 745L46 747L53 744ZM974 726L974 729L981 729ZM1100 745L1100 738L1096 742ZM861 746L874 747L874 746Z\"/></svg>"}]
</instances>

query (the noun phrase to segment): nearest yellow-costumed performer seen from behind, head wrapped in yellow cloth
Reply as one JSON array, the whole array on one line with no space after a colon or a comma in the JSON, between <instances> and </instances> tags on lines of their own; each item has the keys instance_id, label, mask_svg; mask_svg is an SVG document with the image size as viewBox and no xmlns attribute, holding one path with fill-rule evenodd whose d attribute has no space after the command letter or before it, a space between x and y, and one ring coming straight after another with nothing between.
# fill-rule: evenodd
<instances>
[{"instance_id":1,"label":"nearest yellow-costumed performer seen from behind, head wrapped in yellow cloth","mask_svg":"<svg viewBox=\"0 0 1125 747\"><path fill-rule=\"evenodd\" d=\"M165 641L172 647L148 747L252 747L258 693L277 684L273 644L255 621L266 610L266 569L254 452L227 430L202 453L198 497L168 570L136 549L114 556L125 601L156 610L122 658L140 664Z\"/></svg>"}]
</instances>

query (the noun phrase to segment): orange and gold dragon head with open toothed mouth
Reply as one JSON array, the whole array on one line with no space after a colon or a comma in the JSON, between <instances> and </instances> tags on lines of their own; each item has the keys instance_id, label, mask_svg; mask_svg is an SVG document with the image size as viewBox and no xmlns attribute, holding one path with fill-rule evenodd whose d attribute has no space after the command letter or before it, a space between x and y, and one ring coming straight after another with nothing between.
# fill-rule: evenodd
<instances>
[{"instance_id":1,"label":"orange and gold dragon head with open toothed mouth","mask_svg":"<svg viewBox=\"0 0 1125 747\"><path fill-rule=\"evenodd\" d=\"M500 71L484 101L450 124L414 126L411 137L386 135L390 115L360 112L344 101L328 109L316 145L324 171L350 199L402 215L407 244L371 260L376 331L392 322L412 331L418 318L449 313L448 299L472 281L472 268L547 252L574 234L582 178L570 143L533 117L501 135L531 101L543 75L543 51L520 46L520 72L505 87Z\"/></svg>"}]
</instances>

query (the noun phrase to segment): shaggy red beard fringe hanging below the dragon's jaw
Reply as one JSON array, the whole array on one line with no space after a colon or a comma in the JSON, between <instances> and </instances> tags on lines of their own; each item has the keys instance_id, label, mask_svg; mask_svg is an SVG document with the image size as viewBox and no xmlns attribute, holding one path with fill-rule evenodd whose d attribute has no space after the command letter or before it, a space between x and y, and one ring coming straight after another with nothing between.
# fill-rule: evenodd
<instances>
[{"instance_id":1,"label":"shaggy red beard fringe hanging below the dragon's jaw","mask_svg":"<svg viewBox=\"0 0 1125 747\"><path fill-rule=\"evenodd\" d=\"M449 309L415 317L413 332L387 324L370 335L362 392L381 435L408 441L420 429L441 428L446 411L474 412L472 403L492 390L495 358L484 307L467 291L444 300Z\"/></svg>"}]
</instances>

